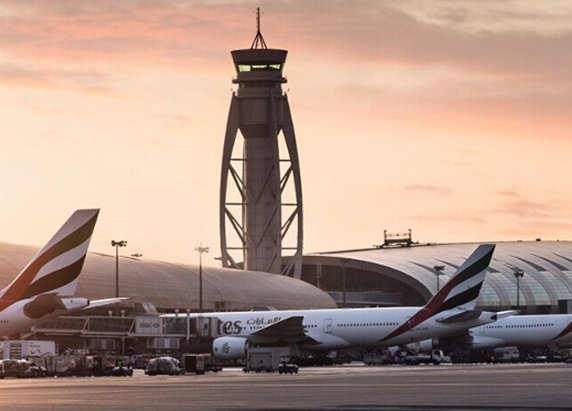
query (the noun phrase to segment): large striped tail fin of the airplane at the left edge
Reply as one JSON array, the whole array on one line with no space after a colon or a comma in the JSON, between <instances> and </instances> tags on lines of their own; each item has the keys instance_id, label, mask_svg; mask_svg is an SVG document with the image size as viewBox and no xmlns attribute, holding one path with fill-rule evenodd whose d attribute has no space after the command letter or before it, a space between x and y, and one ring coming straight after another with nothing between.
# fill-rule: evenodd
<instances>
[{"instance_id":1,"label":"large striped tail fin of the airplane at the left edge","mask_svg":"<svg viewBox=\"0 0 572 411\"><path fill-rule=\"evenodd\" d=\"M2 292L2 305L51 293L71 296L87 254L99 209L77 210Z\"/></svg>"}]
</instances>

